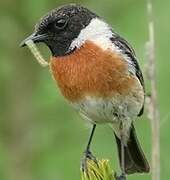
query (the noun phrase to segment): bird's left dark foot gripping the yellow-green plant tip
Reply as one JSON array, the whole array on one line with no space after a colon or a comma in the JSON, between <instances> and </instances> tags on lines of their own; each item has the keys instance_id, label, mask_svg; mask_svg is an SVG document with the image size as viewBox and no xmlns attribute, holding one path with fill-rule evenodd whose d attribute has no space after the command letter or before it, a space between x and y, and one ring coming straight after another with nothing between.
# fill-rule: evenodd
<instances>
[{"instance_id":1,"label":"bird's left dark foot gripping the yellow-green plant tip","mask_svg":"<svg viewBox=\"0 0 170 180\"><path fill-rule=\"evenodd\" d=\"M87 167L88 160L92 160L97 164L96 157L89 150L86 150L84 152L84 156L81 161L81 169L82 169L82 171L85 171L86 173L88 173L88 167Z\"/></svg>"}]
</instances>

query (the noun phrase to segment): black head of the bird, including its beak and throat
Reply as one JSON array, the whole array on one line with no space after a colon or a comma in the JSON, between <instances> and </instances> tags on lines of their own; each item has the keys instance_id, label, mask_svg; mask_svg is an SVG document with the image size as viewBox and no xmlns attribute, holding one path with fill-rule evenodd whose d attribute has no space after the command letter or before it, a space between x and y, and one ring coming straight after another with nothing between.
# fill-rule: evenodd
<instances>
[{"instance_id":1,"label":"black head of the bird, including its beak and throat","mask_svg":"<svg viewBox=\"0 0 170 180\"><path fill-rule=\"evenodd\" d=\"M32 39L34 43L44 42L53 56L64 56L73 51L69 48L72 41L95 17L97 15L87 8L74 4L54 9L41 18L34 33L21 46Z\"/></svg>"}]
</instances>

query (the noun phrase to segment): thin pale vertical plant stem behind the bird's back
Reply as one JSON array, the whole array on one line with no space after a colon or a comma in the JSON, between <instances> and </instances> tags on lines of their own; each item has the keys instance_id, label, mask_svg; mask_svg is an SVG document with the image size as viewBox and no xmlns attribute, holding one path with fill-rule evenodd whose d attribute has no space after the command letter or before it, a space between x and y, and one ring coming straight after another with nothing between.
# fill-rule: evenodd
<instances>
[{"instance_id":1,"label":"thin pale vertical plant stem behind the bird's back","mask_svg":"<svg viewBox=\"0 0 170 180\"><path fill-rule=\"evenodd\" d=\"M156 87L155 32L152 0L147 0L147 11L149 19L148 75L151 82L151 97L148 111L152 129L152 180L160 180L160 117Z\"/></svg>"}]
</instances>

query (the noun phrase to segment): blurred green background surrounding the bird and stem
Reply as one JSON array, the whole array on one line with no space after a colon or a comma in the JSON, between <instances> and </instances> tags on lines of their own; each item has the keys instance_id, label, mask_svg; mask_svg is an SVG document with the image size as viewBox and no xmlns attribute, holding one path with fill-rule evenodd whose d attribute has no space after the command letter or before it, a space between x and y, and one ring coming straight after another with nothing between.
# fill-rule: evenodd
<instances>
[{"instance_id":1,"label":"blurred green background surrounding the bird and stem","mask_svg":"<svg viewBox=\"0 0 170 180\"><path fill-rule=\"evenodd\" d=\"M48 69L41 68L27 48L19 48L21 40L32 32L42 15L71 2L87 6L104 17L134 46L144 68L148 39L144 0L1 0L0 180L80 180L79 164L89 125L56 90ZM169 9L170 1L154 1L161 112L161 179L170 177ZM40 48L49 57L47 48ZM146 115L140 119L135 125L150 159L150 123ZM92 150L97 157L110 159L112 167L118 171L115 140L109 127L98 127ZM149 180L151 177L133 175L128 179Z\"/></svg>"}]
</instances>

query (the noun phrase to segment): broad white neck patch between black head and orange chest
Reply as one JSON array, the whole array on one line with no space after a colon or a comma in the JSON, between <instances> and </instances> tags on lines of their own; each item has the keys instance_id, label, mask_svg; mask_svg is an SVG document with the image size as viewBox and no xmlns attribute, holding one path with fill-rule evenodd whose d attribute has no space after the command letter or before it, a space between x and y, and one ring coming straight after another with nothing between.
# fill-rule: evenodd
<instances>
[{"instance_id":1,"label":"broad white neck patch between black head and orange chest","mask_svg":"<svg viewBox=\"0 0 170 180\"><path fill-rule=\"evenodd\" d=\"M99 18L94 18L85 29L81 30L79 36L73 40L70 49L80 48L87 40L94 42L104 50L113 48L113 43L110 41L112 36L113 32L109 25Z\"/></svg>"}]
</instances>

